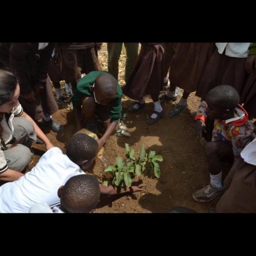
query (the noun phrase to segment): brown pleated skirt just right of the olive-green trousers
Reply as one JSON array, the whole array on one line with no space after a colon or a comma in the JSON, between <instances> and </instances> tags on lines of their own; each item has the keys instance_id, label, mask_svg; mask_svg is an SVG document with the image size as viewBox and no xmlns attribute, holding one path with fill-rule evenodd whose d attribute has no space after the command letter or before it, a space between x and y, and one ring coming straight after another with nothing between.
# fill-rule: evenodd
<instances>
[{"instance_id":1,"label":"brown pleated skirt just right of the olive-green trousers","mask_svg":"<svg viewBox=\"0 0 256 256\"><path fill-rule=\"evenodd\" d=\"M134 70L123 93L135 100L149 94L157 100L163 89L164 47L162 44L142 46Z\"/></svg>"}]
</instances>

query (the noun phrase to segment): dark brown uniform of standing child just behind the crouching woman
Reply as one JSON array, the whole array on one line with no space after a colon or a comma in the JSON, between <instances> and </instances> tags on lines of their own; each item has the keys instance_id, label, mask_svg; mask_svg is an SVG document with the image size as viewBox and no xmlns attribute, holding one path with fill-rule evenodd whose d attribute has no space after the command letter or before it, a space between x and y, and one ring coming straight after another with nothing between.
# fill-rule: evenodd
<instances>
[{"instance_id":1,"label":"dark brown uniform of standing child just behind the crouching woman","mask_svg":"<svg viewBox=\"0 0 256 256\"><path fill-rule=\"evenodd\" d=\"M50 79L47 76L53 43L38 50L39 43L12 42L9 47L10 70L16 74L20 86L19 102L34 120L52 115L58 110ZM23 96L35 90L38 82L46 80L44 89L35 97L35 102L27 101Z\"/></svg>"}]
</instances>

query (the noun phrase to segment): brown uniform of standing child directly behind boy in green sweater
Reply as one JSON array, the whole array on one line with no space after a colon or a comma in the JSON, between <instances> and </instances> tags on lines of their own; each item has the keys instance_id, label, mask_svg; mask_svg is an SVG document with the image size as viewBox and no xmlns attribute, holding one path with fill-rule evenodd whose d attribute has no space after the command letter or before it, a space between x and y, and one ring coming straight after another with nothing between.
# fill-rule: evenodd
<instances>
[{"instance_id":1,"label":"brown uniform of standing child directly behind boy in green sweater","mask_svg":"<svg viewBox=\"0 0 256 256\"><path fill-rule=\"evenodd\" d=\"M56 50L60 72L67 83L77 83L83 73L102 70L96 49L101 44L101 42L58 43Z\"/></svg>"}]
</instances>

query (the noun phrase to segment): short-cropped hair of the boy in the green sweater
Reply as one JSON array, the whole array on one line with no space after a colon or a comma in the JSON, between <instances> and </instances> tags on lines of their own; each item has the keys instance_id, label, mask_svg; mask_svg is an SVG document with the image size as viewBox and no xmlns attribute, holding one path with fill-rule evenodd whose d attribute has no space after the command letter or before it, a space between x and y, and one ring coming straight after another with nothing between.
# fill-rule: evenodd
<instances>
[{"instance_id":1,"label":"short-cropped hair of the boy in the green sweater","mask_svg":"<svg viewBox=\"0 0 256 256\"><path fill-rule=\"evenodd\" d=\"M95 83L106 98L112 98L116 94L116 78L113 75L109 73L100 74Z\"/></svg>"}]
</instances>

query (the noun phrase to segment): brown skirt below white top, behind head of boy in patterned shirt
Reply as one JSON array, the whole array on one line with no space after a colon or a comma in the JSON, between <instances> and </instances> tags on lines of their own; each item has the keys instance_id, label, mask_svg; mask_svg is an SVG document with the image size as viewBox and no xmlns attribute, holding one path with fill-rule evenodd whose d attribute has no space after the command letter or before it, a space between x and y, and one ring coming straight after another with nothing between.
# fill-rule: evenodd
<instances>
[{"instance_id":1,"label":"brown skirt below white top, behind head of boy in patterned shirt","mask_svg":"<svg viewBox=\"0 0 256 256\"><path fill-rule=\"evenodd\" d=\"M196 95L205 99L212 88L227 84L234 87L241 96L248 78L245 61L246 58L228 57L216 49L204 69Z\"/></svg>"}]
</instances>

